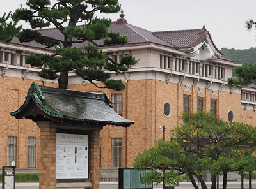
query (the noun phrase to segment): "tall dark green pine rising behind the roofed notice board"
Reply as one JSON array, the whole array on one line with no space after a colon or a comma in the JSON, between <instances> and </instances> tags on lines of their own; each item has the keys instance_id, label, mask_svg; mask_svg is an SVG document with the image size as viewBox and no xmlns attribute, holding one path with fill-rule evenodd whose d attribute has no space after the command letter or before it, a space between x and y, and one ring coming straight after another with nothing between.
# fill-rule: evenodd
<instances>
[{"instance_id":1,"label":"tall dark green pine rising behind the roofed notice board","mask_svg":"<svg viewBox=\"0 0 256 190\"><path fill-rule=\"evenodd\" d=\"M109 71L124 73L129 65L138 61L132 55L125 55L118 63L99 50L99 47L124 45L127 38L108 31L111 20L95 17L96 11L120 11L118 0L57 0L52 5L50 0L27 0L26 5L29 9L19 8L12 17L15 22L24 20L31 25L31 29L24 29L19 34L20 42L36 41L47 48L56 47L54 55L41 54L26 58L26 62L32 66L47 63L49 68L42 69L40 77L58 80L60 88L67 88L68 73L75 71L96 86L95 82L99 81L104 83L104 87L111 89L125 88L121 80L109 80ZM83 25L78 26L80 23ZM58 29L60 38L35 30L49 27L50 24ZM86 45L83 49L73 47L79 43Z\"/></svg>"}]
</instances>

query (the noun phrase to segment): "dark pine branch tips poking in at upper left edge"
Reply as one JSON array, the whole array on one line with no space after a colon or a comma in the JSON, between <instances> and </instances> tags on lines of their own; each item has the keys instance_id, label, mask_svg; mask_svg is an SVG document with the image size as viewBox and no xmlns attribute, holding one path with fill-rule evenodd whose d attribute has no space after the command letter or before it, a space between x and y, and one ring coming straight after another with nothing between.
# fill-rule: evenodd
<instances>
[{"instance_id":1,"label":"dark pine branch tips poking in at upper left edge","mask_svg":"<svg viewBox=\"0 0 256 190\"><path fill-rule=\"evenodd\" d=\"M9 18L11 18L11 12L7 15L4 13L0 17L0 41L10 42L22 29L22 26L17 26L17 22L9 21Z\"/></svg>"}]
</instances>

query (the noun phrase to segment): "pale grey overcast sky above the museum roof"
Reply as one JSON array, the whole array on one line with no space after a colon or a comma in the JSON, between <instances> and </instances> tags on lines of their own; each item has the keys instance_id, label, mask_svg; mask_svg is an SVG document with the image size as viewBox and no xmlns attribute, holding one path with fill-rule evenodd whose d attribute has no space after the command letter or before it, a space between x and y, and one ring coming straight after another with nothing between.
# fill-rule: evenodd
<instances>
[{"instance_id":1,"label":"pale grey overcast sky above the museum roof","mask_svg":"<svg viewBox=\"0 0 256 190\"><path fill-rule=\"evenodd\" d=\"M4 1L4 0L1 0ZM205 25L219 49L256 47L256 30L248 31L245 22L256 20L256 0L119 0L129 24L148 31L200 29ZM0 15L14 11L25 0L7 0ZM102 16L103 17L103 16ZM115 21L119 13L104 15Z\"/></svg>"}]
</instances>

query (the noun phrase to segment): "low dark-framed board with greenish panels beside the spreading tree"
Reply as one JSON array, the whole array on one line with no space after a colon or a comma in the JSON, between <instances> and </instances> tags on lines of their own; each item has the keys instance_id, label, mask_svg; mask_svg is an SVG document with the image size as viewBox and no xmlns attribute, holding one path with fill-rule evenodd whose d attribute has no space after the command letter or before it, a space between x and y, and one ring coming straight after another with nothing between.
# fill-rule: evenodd
<instances>
[{"instance_id":1,"label":"low dark-framed board with greenish panels beside the spreading tree","mask_svg":"<svg viewBox=\"0 0 256 190\"><path fill-rule=\"evenodd\" d=\"M153 184L142 184L140 178L149 169L135 170L133 168L119 168L118 170L118 189L153 189Z\"/></svg>"}]
</instances>

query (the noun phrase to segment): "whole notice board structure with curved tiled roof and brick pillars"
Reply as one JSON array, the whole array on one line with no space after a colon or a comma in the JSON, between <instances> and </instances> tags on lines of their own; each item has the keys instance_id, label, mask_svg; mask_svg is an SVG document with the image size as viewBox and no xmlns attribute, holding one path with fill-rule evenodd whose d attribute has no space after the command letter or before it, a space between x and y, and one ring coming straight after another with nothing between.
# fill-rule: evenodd
<instances>
[{"instance_id":1,"label":"whole notice board structure with curved tiled roof and brick pillars","mask_svg":"<svg viewBox=\"0 0 256 190\"><path fill-rule=\"evenodd\" d=\"M40 189L99 189L100 130L134 124L113 110L107 94L36 83L24 104L10 114L31 119L40 128Z\"/></svg>"}]
</instances>

